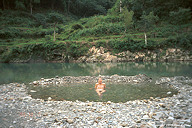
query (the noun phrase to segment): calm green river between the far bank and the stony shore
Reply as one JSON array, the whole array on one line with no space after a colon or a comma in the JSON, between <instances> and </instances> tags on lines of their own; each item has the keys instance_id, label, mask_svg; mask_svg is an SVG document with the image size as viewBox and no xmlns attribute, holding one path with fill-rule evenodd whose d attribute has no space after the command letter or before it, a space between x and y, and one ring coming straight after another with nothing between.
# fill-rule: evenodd
<instances>
[{"instance_id":1,"label":"calm green river between the far bank and the stony shore","mask_svg":"<svg viewBox=\"0 0 192 128\"><path fill-rule=\"evenodd\" d=\"M55 76L98 76L137 75L149 77L189 76L192 77L192 63L27 63L0 64L0 84L10 82L31 82L40 78Z\"/></svg>"}]
</instances>

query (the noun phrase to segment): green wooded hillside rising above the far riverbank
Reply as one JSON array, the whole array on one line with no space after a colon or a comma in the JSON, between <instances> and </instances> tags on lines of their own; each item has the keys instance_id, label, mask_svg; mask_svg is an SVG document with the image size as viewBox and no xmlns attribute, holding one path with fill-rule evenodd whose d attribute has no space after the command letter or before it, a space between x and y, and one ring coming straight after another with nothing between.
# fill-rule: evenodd
<instances>
[{"instance_id":1,"label":"green wooded hillside rising above the far riverbank","mask_svg":"<svg viewBox=\"0 0 192 128\"><path fill-rule=\"evenodd\" d=\"M51 61L57 53L67 60L92 46L112 54L166 48L192 54L191 5L191 0L1 0L0 61Z\"/></svg>"}]
</instances>

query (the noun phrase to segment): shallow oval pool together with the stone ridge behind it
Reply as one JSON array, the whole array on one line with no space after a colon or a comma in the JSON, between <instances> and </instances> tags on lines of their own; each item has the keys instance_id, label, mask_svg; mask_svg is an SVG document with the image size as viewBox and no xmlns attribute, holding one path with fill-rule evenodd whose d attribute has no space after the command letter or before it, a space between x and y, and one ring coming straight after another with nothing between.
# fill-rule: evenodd
<instances>
[{"instance_id":1,"label":"shallow oval pool together with the stone ridge behind it","mask_svg":"<svg viewBox=\"0 0 192 128\"><path fill-rule=\"evenodd\" d=\"M99 77L106 84L105 93L98 94L95 84ZM127 102L129 100L167 97L177 93L169 86L155 84L155 80L139 74L135 76L64 76L50 79L41 78L29 83L33 98L69 101ZM97 93L96 93L97 92ZM169 94L170 93L170 94ZM97 95L98 94L98 95Z\"/></svg>"}]
</instances>

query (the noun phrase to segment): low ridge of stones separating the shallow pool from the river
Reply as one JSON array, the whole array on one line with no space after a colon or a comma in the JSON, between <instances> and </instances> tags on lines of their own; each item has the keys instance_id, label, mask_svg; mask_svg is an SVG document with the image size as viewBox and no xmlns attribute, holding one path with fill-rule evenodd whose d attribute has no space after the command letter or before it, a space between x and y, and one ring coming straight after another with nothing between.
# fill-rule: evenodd
<instances>
[{"instance_id":1,"label":"low ridge of stones separating the shallow pool from the river","mask_svg":"<svg viewBox=\"0 0 192 128\"><path fill-rule=\"evenodd\" d=\"M151 82L152 78L147 77L145 74L139 74L136 76L119 76L119 75L112 75L112 76L64 76L51 78L51 79L44 79L41 78L38 81L33 81L29 83L30 85L65 85L69 83L97 83L98 78L101 77L104 83L141 83L141 82Z\"/></svg>"}]
</instances>

